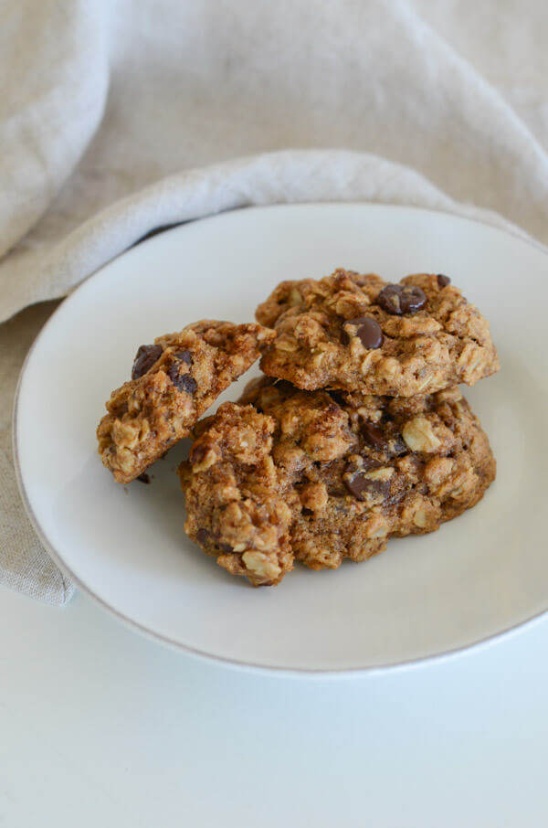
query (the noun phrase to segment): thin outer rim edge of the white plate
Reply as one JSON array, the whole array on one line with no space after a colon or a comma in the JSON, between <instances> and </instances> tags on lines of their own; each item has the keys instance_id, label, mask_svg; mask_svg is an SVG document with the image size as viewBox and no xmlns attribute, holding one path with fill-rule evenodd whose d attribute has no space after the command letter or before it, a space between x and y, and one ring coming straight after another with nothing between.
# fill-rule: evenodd
<instances>
[{"instance_id":1,"label":"thin outer rim edge of the white plate","mask_svg":"<svg viewBox=\"0 0 548 828\"><path fill-rule=\"evenodd\" d=\"M219 218L221 216L225 216L229 213L237 213L243 212L248 210L277 210L284 207L383 207L389 211L402 211L402 212L418 212L424 213L427 215L442 215L446 218L452 218L457 222L463 222L472 225L480 225L486 228L490 228L496 233L500 233L504 237L510 236L512 239L515 239L518 242L522 242L526 247L531 247L535 249L537 252L543 254L547 259L548 265L548 248L545 247L541 242L537 241L536 239L530 238L527 235L522 235L519 232L519 228L516 232L511 232L510 229L497 227L494 224L490 224L489 221L479 219L479 218L469 218L467 216L460 216L458 213L452 213L448 210L435 210L430 209L427 207L418 207L416 205L400 205L400 204L386 204L384 202L374 202L374 201L307 201L307 202L298 202L298 203L278 203L278 204L269 204L269 205L249 205L247 207L236 207L233 209L223 210L219 213L214 213L208 216L204 216L201 218L191 219L189 221L181 222L180 224L175 224L174 226L163 230L162 233L154 234L154 236L147 237L145 236L144 239L137 240L130 248L122 250L116 256L113 256L112 259L104 262L100 268L96 271L90 273L85 279L79 282L79 284L68 293L65 297L61 298L61 303L58 307L54 310L53 313L48 317L46 324L44 324L37 333L32 345L28 349L26 353L25 360L23 365L21 366L21 370L19 372L19 377L17 378L16 384L16 393L14 397L13 409L12 409L12 449L13 449L13 456L14 456L14 468L16 472L16 482L17 488L19 490L19 494L21 496L22 503L24 505L26 515L37 534L38 540L42 544L42 546L46 549L47 555L51 557L53 562L56 564L58 569L61 571L63 576L67 577L72 581L74 586L79 589L81 592L86 594L93 600L96 604L98 604L103 610L106 610L111 616L116 618L118 621L121 621L124 626L130 628L134 632L141 633L145 638L153 641L153 642L160 642L163 645L169 647L170 649L177 650L179 652L186 653L190 656L203 660L207 663L215 663L217 665L222 665L226 667L232 667L233 669L237 669L243 672L252 672L258 674L266 674L266 675L277 675L277 676L287 676L287 677L294 677L294 678L304 678L304 677L318 677L318 678L350 678L350 677L357 677L357 676L364 676L370 674L385 674L386 671L403 671L418 668L429 663L443 663L446 660L454 659L458 656L467 654L467 653L474 653L479 652L480 650L487 648L495 643L498 643L502 638L506 638L512 634L518 634L520 632L524 632L526 629L531 627L534 624L542 621L543 617L548 614L548 598L546 601L546 607L543 610L538 612L534 612L530 617L525 618L523 621L518 621L517 623L512 623L508 627L504 627L502 630L498 632L493 632L490 635L486 635L483 638L478 639L477 641L470 642L467 644L463 644L457 647L452 647L448 650L443 650L439 653L430 653L428 655L421 655L418 657L410 657L408 659L403 659L402 661L394 662L394 663L378 663L378 664L369 664L367 666L342 666L342 667L298 667L298 666L281 666L276 664L264 664L259 662L248 662L243 661L237 658L231 658L228 656L218 655L214 653L208 653L207 651L200 650L197 647L193 647L190 644L180 642L174 638L171 638L169 635L165 635L162 632L155 632L150 630L148 627L144 626L139 621L135 621L134 619L130 618L129 616L125 615L121 610L117 610L111 606L106 600L100 598L93 589L91 589L87 584L85 584L82 580L76 576L68 564L59 556L58 551L52 546L50 541L48 540L47 536L45 535L44 531L42 530L41 525L37 519L37 515L35 515L32 505L30 504L28 495L26 493L26 486L23 480L23 474L21 472L21 466L19 462L19 430L18 430L18 411L19 411L19 402L20 402L20 390L23 383L23 379L26 374L27 365L35 353L37 346L39 345L43 335L46 333L47 328L50 324L54 324L55 318L57 317L58 313L61 310L61 307L64 307L67 303L70 303L73 296L75 296L82 288L84 288L91 280L97 277L105 267L108 267L112 261L119 259L121 256L124 256L126 253L130 252L132 249L136 247L141 247L142 244L149 244L149 243L156 243L156 237L160 235L165 235L172 233L179 228L185 227L190 224L195 224L197 221L206 221L209 218Z\"/></svg>"}]
</instances>

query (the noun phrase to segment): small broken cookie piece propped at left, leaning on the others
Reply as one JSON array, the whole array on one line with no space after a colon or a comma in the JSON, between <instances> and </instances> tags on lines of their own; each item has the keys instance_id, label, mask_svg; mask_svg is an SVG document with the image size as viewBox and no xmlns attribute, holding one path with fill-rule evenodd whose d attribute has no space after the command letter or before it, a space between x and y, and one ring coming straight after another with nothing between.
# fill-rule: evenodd
<instances>
[{"instance_id":1,"label":"small broken cookie piece propped at left, leaning on the others","mask_svg":"<svg viewBox=\"0 0 548 828\"><path fill-rule=\"evenodd\" d=\"M275 334L259 324L203 320L137 351L132 380L113 391L97 430L102 462L130 483L175 442Z\"/></svg>"}]
</instances>

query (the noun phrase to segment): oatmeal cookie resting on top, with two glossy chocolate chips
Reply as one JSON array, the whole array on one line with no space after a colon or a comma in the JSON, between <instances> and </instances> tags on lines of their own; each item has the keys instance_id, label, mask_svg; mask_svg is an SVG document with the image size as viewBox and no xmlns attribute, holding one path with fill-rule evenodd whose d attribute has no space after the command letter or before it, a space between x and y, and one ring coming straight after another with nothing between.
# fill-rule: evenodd
<instances>
[{"instance_id":1,"label":"oatmeal cookie resting on top, with two glossy chocolate chips","mask_svg":"<svg viewBox=\"0 0 548 828\"><path fill-rule=\"evenodd\" d=\"M487 320L443 274L388 284L338 270L282 281L257 319L278 334L261 359L264 373L308 390L412 397L471 386L499 369Z\"/></svg>"}]
</instances>

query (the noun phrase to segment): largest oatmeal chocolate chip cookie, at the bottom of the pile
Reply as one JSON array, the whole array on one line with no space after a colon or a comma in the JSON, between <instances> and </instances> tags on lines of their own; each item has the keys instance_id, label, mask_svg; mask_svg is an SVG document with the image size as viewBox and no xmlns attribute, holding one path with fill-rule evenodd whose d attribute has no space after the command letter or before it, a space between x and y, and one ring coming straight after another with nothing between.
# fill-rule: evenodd
<instances>
[{"instance_id":1,"label":"largest oatmeal chocolate chip cookie, at the bottom of the pile","mask_svg":"<svg viewBox=\"0 0 548 828\"><path fill-rule=\"evenodd\" d=\"M294 559L337 568L390 536L432 532L495 476L458 387L388 398L263 378L197 432L179 467L185 531L255 586L279 583Z\"/></svg>"}]
</instances>

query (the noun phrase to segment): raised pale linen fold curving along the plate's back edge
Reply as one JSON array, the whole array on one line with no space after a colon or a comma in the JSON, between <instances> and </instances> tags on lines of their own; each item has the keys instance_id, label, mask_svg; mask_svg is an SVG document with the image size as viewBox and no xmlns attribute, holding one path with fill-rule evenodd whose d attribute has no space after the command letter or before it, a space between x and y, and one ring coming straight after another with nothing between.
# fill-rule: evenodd
<instances>
[{"instance_id":1,"label":"raised pale linen fold curving along the plate's back edge","mask_svg":"<svg viewBox=\"0 0 548 828\"><path fill-rule=\"evenodd\" d=\"M526 234L489 210L459 205L402 165L348 150L286 150L170 175L102 210L49 249L0 261L0 322L65 295L154 228L224 210L314 201L375 201L444 210ZM28 274L32 274L29 279Z\"/></svg>"}]
</instances>

